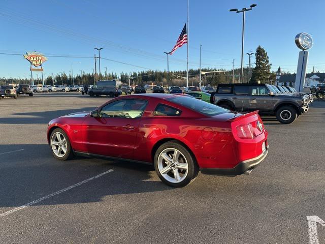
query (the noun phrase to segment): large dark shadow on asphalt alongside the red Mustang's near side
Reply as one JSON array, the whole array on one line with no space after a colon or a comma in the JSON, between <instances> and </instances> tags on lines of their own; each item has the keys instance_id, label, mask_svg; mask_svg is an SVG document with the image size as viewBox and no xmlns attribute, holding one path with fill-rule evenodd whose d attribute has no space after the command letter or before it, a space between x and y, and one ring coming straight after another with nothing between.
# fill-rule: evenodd
<instances>
[{"instance_id":1,"label":"large dark shadow on asphalt alongside the red Mustang's near side","mask_svg":"<svg viewBox=\"0 0 325 244\"><path fill-rule=\"evenodd\" d=\"M100 202L110 195L172 190L158 179L152 166L83 157L60 161L46 144L0 145L0 158L2 212L110 169L114 171L36 205Z\"/></svg>"}]
</instances>

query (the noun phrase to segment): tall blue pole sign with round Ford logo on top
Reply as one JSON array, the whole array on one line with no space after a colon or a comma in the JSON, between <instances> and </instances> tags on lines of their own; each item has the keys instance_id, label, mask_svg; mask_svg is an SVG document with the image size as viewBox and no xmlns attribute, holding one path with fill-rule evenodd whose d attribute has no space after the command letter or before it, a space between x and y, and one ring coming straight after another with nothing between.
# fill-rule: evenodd
<instances>
[{"instance_id":1,"label":"tall blue pole sign with round Ford logo on top","mask_svg":"<svg viewBox=\"0 0 325 244\"><path fill-rule=\"evenodd\" d=\"M295 88L298 92L303 92L305 79L306 79L306 69L308 63L308 49L313 46L313 39L308 33L299 33L295 38L296 45L302 49L299 52L297 74L295 81Z\"/></svg>"}]
</instances>

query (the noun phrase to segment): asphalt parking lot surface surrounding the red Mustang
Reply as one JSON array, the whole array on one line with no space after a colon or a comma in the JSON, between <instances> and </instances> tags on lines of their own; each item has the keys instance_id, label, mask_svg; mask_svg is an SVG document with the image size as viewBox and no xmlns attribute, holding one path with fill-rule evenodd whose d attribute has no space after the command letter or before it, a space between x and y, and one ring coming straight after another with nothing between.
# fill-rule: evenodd
<instances>
[{"instance_id":1,"label":"asphalt parking lot surface surrounding the red Mustang","mask_svg":"<svg viewBox=\"0 0 325 244\"><path fill-rule=\"evenodd\" d=\"M149 166L54 159L48 121L108 99L0 101L1 243L325 243L325 102L293 124L265 117L270 151L250 175L199 173L173 189Z\"/></svg>"}]
</instances>

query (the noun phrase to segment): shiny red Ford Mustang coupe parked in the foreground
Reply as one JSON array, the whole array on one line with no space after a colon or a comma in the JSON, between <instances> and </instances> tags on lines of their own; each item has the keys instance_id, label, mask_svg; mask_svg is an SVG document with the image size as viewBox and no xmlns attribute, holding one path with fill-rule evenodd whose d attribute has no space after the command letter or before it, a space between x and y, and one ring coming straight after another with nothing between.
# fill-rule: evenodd
<instances>
[{"instance_id":1,"label":"shiny red Ford Mustang coupe parked in the foreground","mask_svg":"<svg viewBox=\"0 0 325 244\"><path fill-rule=\"evenodd\" d=\"M257 112L241 114L184 95L141 94L110 100L90 113L51 120L55 158L74 155L153 164L159 178L183 187L202 173L250 173L268 153Z\"/></svg>"}]
</instances>

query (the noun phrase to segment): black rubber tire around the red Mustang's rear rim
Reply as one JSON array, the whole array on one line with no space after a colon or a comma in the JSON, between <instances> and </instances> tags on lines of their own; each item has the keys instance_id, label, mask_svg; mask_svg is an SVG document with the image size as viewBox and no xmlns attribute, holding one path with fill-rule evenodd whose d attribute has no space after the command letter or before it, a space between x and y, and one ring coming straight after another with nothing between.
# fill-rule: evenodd
<instances>
[{"instance_id":1,"label":"black rubber tire around the red Mustang's rear rim","mask_svg":"<svg viewBox=\"0 0 325 244\"><path fill-rule=\"evenodd\" d=\"M159 167L158 167L159 155L162 151L164 151L167 148L177 149L178 151L180 151L183 154L183 156L185 157L185 159L187 161L188 172L187 172L186 177L180 182L175 183L175 182L168 181L167 179L164 178L164 176L159 171ZM153 162L154 162L153 164L154 164L155 171L156 171L158 177L160 178L160 180L163 181L166 185L168 185L170 187L175 187L175 188L185 187L188 184L190 184L197 177L197 175L199 173L199 166L196 162L196 159L192 156L191 152L186 147L184 147L181 143L179 143L178 141L175 141L175 140L166 142L163 145L159 146L155 152Z\"/></svg>"}]
</instances>

